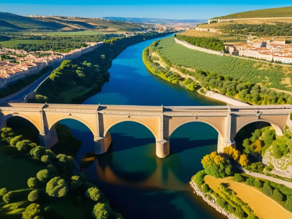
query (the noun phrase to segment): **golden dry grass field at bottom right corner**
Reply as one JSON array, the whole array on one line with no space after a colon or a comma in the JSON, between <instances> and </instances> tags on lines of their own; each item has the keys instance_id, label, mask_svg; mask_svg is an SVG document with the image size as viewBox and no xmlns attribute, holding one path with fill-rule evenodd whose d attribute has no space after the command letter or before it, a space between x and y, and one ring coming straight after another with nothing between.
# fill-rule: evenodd
<instances>
[{"instance_id":1,"label":"golden dry grass field at bottom right corner","mask_svg":"<svg viewBox=\"0 0 292 219\"><path fill-rule=\"evenodd\" d=\"M220 187L220 183L229 183L229 188L236 192L237 197L246 202L260 219L292 218L292 213L284 209L273 199L267 197L261 191L251 186L234 182L230 177L216 179L213 176L207 175L205 176L205 182L210 186L210 188L219 194L221 194L218 189Z\"/></svg>"}]
</instances>

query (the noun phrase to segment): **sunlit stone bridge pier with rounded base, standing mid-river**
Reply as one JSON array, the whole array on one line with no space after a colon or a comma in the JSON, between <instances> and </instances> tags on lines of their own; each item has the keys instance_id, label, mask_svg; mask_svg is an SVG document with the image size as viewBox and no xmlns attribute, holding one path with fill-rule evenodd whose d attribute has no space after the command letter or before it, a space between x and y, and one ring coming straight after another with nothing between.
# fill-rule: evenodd
<instances>
[{"instance_id":1,"label":"sunlit stone bridge pier with rounded base, standing mid-river","mask_svg":"<svg viewBox=\"0 0 292 219\"><path fill-rule=\"evenodd\" d=\"M156 155L159 158L164 158L169 155L169 125L165 116L159 118L159 136L156 139Z\"/></svg>"}]
</instances>

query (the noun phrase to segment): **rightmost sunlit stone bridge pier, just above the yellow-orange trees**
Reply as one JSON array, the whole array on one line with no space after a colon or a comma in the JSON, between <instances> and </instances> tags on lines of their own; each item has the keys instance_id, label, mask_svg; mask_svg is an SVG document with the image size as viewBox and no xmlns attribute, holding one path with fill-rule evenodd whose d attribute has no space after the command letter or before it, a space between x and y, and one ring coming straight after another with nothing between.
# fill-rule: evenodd
<instances>
[{"instance_id":1,"label":"rightmost sunlit stone bridge pier, just above the yellow-orange trees","mask_svg":"<svg viewBox=\"0 0 292 219\"><path fill-rule=\"evenodd\" d=\"M236 148L235 141L232 136L233 132L236 131L236 126L232 126L232 122L234 122L234 117L229 114L227 115L225 119L225 133L224 136L218 135L218 147L217 152L218 153L224 153L224 148L228 146L232 146ZM233 128L232 128L233 127Z\"/></svg>"}]
</instances>

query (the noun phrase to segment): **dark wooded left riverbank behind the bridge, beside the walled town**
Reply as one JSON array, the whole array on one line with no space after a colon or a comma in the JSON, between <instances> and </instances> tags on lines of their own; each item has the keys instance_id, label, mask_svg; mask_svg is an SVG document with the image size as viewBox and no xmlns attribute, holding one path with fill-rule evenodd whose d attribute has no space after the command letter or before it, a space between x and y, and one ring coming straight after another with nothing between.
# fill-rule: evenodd
<instances>
[{"instance_id":1,"label":"dark wooded left riverbank behind the bridge, beside the walled town","mask_svg":"<svg viewBox=\"0 0 292 219\"><path fill-rule=\"evenodd\" d=\"M77 104L101 90L109 80L112 60L135 43L166 36L166 33L146 33L132 37L112 38L98 49L74 60L65 60L38 88L33 102Z\"/></svg>"}]
</instances>

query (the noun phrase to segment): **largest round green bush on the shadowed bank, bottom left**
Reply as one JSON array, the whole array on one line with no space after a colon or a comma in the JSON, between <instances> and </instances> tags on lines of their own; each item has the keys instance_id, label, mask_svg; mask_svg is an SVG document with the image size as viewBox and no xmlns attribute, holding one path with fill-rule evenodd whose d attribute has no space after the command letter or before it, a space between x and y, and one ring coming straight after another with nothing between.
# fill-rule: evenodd
<instances>
[{"instance_id":1,"label":"largest round green bush on the shadowed bank, bottom left","mask_svg":"<svg viewBox=\"0 0 292 219\"><path fill-rule=\"evenodd\" d=\"M46 185L46 193L52 197L63 197L68 191L67 182L60 176L52 178Z\"/></svg>"}]
</instances>

